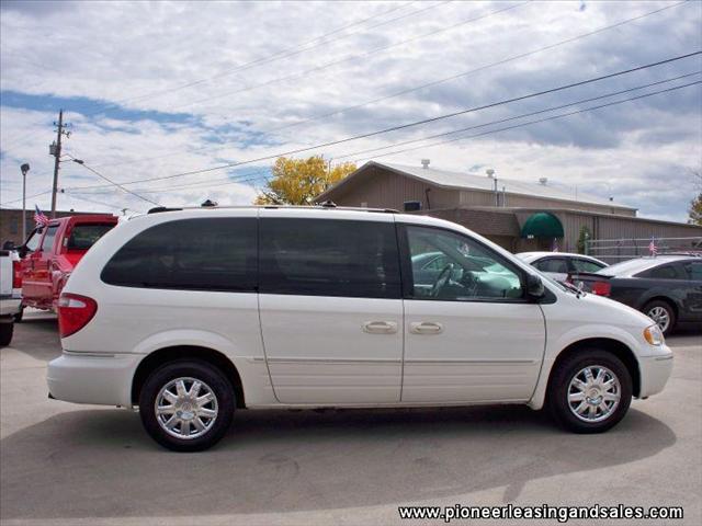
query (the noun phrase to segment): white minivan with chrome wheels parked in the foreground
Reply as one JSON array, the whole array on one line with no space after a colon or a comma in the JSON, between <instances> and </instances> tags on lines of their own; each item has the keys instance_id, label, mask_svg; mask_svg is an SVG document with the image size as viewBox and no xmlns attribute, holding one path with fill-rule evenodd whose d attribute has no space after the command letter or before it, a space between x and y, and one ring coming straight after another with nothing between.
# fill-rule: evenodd
<instances>
[{"instance_id":1,"label":"white minivan with chrome wheels parked in the foreground","mask_svg":"<svg viewBox=\"0 0 702 526\"><path fill-rule=\"evenodd\" d=\"M176 450L212 446L239 409L546 404L597 433L672 368L644 315L393 210L148 214L86 254L58 310L49 397L138 407Z\"/></svg>"}]
</instances>

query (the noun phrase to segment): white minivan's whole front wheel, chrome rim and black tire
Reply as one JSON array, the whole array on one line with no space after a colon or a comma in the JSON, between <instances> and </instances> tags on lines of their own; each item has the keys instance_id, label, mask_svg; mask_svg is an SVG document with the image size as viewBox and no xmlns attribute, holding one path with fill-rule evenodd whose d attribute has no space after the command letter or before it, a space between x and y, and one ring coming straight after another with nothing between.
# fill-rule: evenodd
<instances>
[{"instance_id":1,"label":"white minivan's whole front wheel, chrome rim and black tire","mask_svg":"<svg viewBox=\"0 0 702 526\"><path fill-rule=\"evenodd\" d=\"M548 405L556 422L574 433L602 433L616 425L632 402L629 369L611 353L586 348L553 371Z\"/></svg>"}]
</instances>

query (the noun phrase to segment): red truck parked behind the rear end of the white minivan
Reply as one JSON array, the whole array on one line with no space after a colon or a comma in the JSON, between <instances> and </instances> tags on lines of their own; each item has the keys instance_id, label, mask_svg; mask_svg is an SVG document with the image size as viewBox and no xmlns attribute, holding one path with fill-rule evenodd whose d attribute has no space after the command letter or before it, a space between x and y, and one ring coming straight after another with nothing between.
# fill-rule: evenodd
<instances>
[{"instance_id":1,"label":"red truck parked behind the rear end of the white minivan","mask_svg":"<svg viewBox=\"0 0 702 526\"><path fill-rule=\"evenodd\" d=\"M68 276L80 259L117 224L105 214L61 217L37 227L18 247L22 258L22 307L56 310Z\"/></svg>"}]
</instances>

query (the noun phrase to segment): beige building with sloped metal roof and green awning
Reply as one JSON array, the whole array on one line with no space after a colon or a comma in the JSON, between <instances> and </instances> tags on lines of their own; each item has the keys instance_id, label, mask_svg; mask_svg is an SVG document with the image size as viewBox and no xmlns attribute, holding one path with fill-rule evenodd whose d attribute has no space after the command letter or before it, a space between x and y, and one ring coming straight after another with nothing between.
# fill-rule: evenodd
<instances>
[{"instance_id":1,"label":"beige building with sloped metal roof and green awning","mask_svg":"<svg viewBox=\"0 0 702 526\"><path fill-rule=\"evenodd\" d=\"M512 252L576 252L582 227L591 239L702 237L702 227L642 219L636 208L570 194L545 179L526 183L429 167L369 162L316 199L339 206L394 208L466 226ZM414 210L412 210L414 209Z\"/></svg>"}]
</instances>

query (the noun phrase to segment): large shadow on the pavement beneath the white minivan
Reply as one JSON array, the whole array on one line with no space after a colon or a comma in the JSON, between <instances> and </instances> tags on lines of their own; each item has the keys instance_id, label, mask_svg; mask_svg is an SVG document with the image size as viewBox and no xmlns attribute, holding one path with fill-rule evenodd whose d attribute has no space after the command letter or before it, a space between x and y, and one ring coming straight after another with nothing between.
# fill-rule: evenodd
<instances>
[{"instance_id":1,"label":"large shadow on the pavement beneath the white minivan","mask_svg":"<svg viewBox=\"0 0 702 526\"><path fill-rule=\"evenodd\" d=\"M2 518L178 516L371 506L641 460L673 432L631 410L573 435L522 407L239 411L210 451L158 447L137 414L80 410L1 442ZM32 498L27 498L27 492Z\"/></svg>"}]
</instances>

